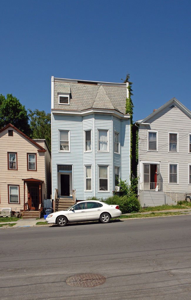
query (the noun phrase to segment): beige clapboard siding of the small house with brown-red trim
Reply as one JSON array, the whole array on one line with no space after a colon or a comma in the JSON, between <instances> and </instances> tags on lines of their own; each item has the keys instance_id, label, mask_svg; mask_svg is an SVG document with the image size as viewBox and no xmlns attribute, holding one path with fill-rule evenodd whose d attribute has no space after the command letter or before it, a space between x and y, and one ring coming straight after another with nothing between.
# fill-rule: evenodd
<instances>
[{"instance_id":1,"label":"beige clapboard siding of the small house with brown-red trim","mask_svg":"<svg viewBox=\"0 0 191 300\"><path fill-rule=\"evenodd\" d=\"M13 130L13 136L8 136L8 130ZM51 178L49 180L46 176L47 164L46 160L51 161L50 153L46 149L45 141L39 140L39 145L46 149L46 152L38 152L40 149L35 146L30 140L16 131L14 128L10 127L1 131L0 133L1 149L0 149L0 196L1 203L0 207L11 207L12 210L22 210L24 203L24 184L22 179L35 178L43 180L42 183L42 197L50 198ZM7 152L17 153L17 166L18 170L8 170L7 163ZM27 171L27 153L35 153L37 155L37 171ZM19 185L20 191L20 204L11 203L8 204L8 184ZM27 188L26 188L27 191ZM27 192L25 192L25 202L27 202Z\"/></svg>"}]
</instances>

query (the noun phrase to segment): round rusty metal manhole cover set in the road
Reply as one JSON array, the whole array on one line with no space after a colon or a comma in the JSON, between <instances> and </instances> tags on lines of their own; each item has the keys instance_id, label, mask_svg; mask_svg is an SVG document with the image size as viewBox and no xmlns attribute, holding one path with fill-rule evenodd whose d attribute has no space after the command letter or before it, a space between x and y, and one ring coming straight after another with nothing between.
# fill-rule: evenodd
<instances>
[{"instance_id":1,"label":"round rusty metal manhole cover set in the road","mask_svg":"<svg viewBox=\"0 0 191 300\"><path fill-rule=\"evenodd\" d=\"M66 283L71 286L91 287L103 284L106 277L99 274L78 274L67 278Z\"/></svg>"}]
</instances>

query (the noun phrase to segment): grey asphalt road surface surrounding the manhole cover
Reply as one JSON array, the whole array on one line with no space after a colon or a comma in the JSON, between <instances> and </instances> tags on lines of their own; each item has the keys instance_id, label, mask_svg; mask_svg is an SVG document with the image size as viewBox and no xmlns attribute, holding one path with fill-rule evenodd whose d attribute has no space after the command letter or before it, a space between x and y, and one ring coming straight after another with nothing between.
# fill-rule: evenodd
<instances>
[{"instance_id":1,"label":"grey asphalt road surface surrounding the manhole cover","mask_svg":"<svg viewBox=\"0 0 191 300\"><path fill-rule=\"evenodd\" d=\"M191 215L0 229L0 298L191 299ZM73 287L76 274L106 282Z\"/></svg>"}]
</instances>

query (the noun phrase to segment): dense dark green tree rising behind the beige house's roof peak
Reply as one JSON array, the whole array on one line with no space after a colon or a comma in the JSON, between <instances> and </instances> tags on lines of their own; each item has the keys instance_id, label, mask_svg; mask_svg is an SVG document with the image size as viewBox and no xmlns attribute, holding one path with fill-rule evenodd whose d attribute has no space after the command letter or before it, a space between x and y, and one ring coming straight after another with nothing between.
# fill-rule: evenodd
<instances>
[{"instance_id":1,"label":"dense dark green tree rising behind the beige house's roof peak","mask_svg":"<svg viewBox=\"0 0 191 300\"><path fill-rule=\"evenodd\" d=\"M11 123L24 134L30 136L31 130L28 124L28 115L25 106L20 104L19 99L7 94L7 98L0 95L0 128Z\"/></svg>"}]
</instances>

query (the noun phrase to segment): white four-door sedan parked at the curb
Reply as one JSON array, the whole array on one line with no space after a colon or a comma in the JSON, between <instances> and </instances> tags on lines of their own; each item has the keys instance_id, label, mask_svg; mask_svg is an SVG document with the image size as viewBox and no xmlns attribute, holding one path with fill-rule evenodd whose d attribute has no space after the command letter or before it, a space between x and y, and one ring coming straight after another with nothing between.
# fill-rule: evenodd
<instances>
[{"instance_id":1,"label":"white four-door sedan parked at the curb","mask_svg":"<svg viewBox=\"0 0 191 300\"><path fill-rule=\"evenodd\" d=\"M49 214L46 218L48 224L58 224L66 226L70 222L100 220L102 223L108 223L110 218L121 216L118 205L109 205L101 201L81 201L66 210L56 211Z\"/></svg>"}]
</instances>

